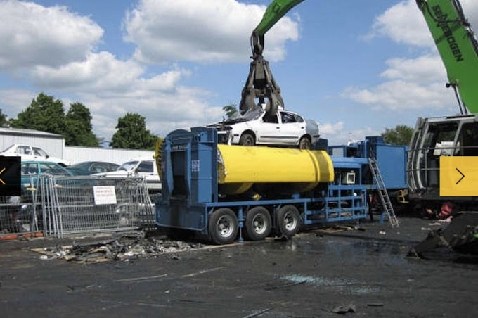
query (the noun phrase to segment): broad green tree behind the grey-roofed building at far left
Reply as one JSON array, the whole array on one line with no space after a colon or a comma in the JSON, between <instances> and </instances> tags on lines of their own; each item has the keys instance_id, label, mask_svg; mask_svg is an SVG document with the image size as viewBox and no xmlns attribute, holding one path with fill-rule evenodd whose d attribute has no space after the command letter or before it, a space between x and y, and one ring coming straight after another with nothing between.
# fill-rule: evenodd
<instances>
[{"instance_id":1,"label":"broad green tree behind the grey-roofed building at far left","mask_svg":"<svg viewBox=\"0 0 478 318\"><path fill-rule=\"evenodd\" d=\"M16 119L11 120L11 127L63 134L65 132L63 101L40 93L27 109L19 113Z\"/></svg>"}]
</instances>

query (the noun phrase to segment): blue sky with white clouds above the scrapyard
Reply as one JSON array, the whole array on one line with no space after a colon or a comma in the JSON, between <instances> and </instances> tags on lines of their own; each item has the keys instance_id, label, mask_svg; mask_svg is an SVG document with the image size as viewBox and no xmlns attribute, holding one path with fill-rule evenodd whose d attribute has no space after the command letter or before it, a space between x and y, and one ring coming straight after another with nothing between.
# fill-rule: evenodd
<instances>
[{"instance_id":1,"label":"blue sky with white clouds above the scrapyard","mask_svg":"<svg viewBox=\"0 0 478 318\"><path fill-rule=\"evenodd\" d=\"M478 1L460 2L478 25ZM80 102L106 141L127 113L158 136L220 121L270 3L0 0L0 109L16 117L41 92ZM459 111L415 0L303 1L266 33L264 58L285 108L330 144Z\"/></svg>"}]
</instances>

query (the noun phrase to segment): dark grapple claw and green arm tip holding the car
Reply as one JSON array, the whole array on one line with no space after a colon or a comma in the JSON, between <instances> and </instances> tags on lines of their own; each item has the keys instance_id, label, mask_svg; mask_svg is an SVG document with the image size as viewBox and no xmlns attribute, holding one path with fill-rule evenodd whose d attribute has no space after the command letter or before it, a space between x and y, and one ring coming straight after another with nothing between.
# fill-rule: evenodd
<instances>
[{"instance_id":1,"label":"dark grapple claw and green arm tip holding the car","mask_svg":"<svg viewBox=\"0 0 478 318\"><path fill-rule=\"evenodd\" d=\"M273 0L266 8L266 12L261 22L252 31L252 62L250 65L249 76L247 77L245 87L241 94L239 110L241 114L247 110L257 108L256 98L259 99L259 105L266 105L266 111L275 114L278 108L284 107L284 102L280 96L280 87L272 76L269 62L262 57L264 50L264 34L266 34L273 25L275 25L285 13L297 6L304 0Z\"/></svg>"}]
</instances>

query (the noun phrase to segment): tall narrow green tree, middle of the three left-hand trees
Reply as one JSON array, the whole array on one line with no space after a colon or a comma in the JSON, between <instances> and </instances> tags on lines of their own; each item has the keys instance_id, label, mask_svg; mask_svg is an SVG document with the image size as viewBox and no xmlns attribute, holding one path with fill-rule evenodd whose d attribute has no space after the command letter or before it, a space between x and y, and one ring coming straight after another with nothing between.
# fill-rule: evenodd
<instances>
[{"instance_id":1,"label":"tall narrow green tree, middle of the three left-hand trees","mask_svg":"<svg viewBox=\"0 0 478 318\"><path fill-rule=\"evenodd\" d=\"M65 116L65 144L68 146L99 146L99 139L93 134L91 114L82 103L72 103Z\"/></svg>"}]
</instances>

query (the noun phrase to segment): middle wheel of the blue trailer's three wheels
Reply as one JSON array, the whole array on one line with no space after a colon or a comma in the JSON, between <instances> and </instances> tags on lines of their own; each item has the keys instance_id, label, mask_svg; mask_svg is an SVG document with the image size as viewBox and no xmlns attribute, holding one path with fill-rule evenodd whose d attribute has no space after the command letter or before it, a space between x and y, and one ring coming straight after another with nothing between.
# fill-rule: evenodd
<instances>
[{"instance_id":1,"label":"middle wheel of the blue trailer's three wheels","mask_svg":"<svg viewBox=\"0 0 478 318\"><path fill-rule=\"evenodd\" d=\"M245 236L251 241L265 239L271 234L272 220L269 211L261 206L247 211L245 217Z\"/></svg>"}]
</instances>

